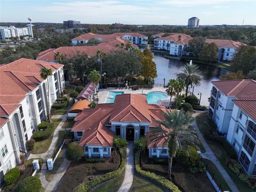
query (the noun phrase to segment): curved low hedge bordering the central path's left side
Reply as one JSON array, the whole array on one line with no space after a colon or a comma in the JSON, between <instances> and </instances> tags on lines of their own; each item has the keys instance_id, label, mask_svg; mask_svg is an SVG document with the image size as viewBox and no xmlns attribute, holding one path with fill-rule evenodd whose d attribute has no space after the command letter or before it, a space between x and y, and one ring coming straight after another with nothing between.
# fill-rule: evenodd
<instances>
[{"instance_id":1,"label":"curved low hedge bordering the central path's left side","mask_svg":"<svg viewBox=\"0 0 256 192\"><path fill-rule=\"evenodd\" d=\"M119 153L121 155L122 161L121 161L119 168L116 171L106 173L103 176L99 176L91 181L87 181L81 187L78 188L77 192L87 192L91 188L99 185L100 183L103 183L105 181L113 179L113 178L117 177L118 175L122 174L123 171L125 170L125 153L124 153L123 148L119 149Z\"/></svg>"}]
</instances>

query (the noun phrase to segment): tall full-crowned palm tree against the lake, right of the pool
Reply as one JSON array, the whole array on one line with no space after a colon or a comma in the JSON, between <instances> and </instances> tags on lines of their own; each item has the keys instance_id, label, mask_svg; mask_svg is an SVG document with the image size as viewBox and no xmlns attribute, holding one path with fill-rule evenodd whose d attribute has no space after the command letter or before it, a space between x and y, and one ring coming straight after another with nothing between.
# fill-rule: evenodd
<instances>
[{"instance_id":1,"label":"tall full-crowned palm tree against the lake, right of the pool","mask_svg":"<svg viewBox=\"0 0 256 192\"><path fill-rule=\"evenodd\" d=\"M183 73L178 73L176 76L185 81L186 85L186 97L188 95L188 87L189 85L199 86L201 85L201 76L199 75L199 67L197 65L189 65L188 63L185 65L182 70Z\"/></svg>"}]
</instances>

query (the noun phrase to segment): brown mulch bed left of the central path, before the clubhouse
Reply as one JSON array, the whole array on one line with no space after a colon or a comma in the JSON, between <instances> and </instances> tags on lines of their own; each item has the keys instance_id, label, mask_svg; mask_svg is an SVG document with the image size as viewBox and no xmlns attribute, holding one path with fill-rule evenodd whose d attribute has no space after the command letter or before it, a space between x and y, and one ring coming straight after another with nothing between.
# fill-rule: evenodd
<instances>
[{"instance_id":1,"label":"brown mulch bed left of the central path, before the clubhouse","mask_svg":"<svg viewBox=\"0 0 256 192\"><path fill-rule=\"evenodd\" d=\"M110 158L106 158L104 163L71 162L56 191L76 191L82 183L89 180L90 176L99 176L117 170L120 162L121 157L115 151L111 153Z\"/></svg>"}]
</instances>

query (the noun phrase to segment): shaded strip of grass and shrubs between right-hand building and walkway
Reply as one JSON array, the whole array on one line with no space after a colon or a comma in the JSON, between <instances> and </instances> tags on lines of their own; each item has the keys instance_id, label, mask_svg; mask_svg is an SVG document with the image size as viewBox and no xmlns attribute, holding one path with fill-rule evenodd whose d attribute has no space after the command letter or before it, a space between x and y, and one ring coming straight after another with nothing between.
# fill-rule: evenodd
<instances>
[{"instance_id":1,"label":"shaded strip of grass and shrubs between right-hand building and walkway","mask_svg":"<svg viewBox=\"0 0 256 192\"><path fill-rule=\"evenodd\" d=\"M239 189L239 191L246 191L246 192L253 192L255 189L252 189L247 185L246 182L243 182L241 179L239 179L239 174L236 174L235 172L231 171L230 167L227 164L227 159L230 159L230 154L234 154L230 150L234 151L234 149L230 149L226 147L223 147L223 139L220 137L214 137L212 132L216 131L216 126L215 124L210 121L206 115L206 113L202 113L197 115L196 117L196 123L203 134L206 142L212 149L214 155L219 159L221 165L223 168L227 171L229 174L230 178L233 180L235 183L236 187ZM226 145L227 142L225 141ZM230 145L229 145L230 146ZM231 152L231 153L230 153Z\"/></svg>"}]
</instances>

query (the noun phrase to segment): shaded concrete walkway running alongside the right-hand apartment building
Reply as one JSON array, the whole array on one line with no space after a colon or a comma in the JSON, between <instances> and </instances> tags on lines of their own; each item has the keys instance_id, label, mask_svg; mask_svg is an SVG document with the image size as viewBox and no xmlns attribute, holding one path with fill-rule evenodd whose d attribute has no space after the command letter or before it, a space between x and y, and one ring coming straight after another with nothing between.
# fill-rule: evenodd
<instances>
[{"instance_id":1,"label":"shaded concrete walkway running alongside the right-hand apartment building","mask_svg":"<svg viewBox=\"0 0 256 192\"><path fill-rule=\"evenodd\" d=\"M198 114L200 114L202 112L196 112L193 114L193 117L196 117ZM197 137L201 140L202 145L204 146L206 152L203 154L200 154L203 158L209 159L212 163L214 163L214 165L217 167L217 169L219 170L219 172L221 173L222 177L225 179L225 181L227 182L228 186L230 187L230 189L233 192L239 192L238 188L236 187L235 183L233 182L233 180L229 177L229 174L227 173L227 171L223 168L223 166L220 164L218 158L214 155L212 149L210 148L210 146L208 145L208 143L205 141L202 133L199 131L199 128L196 124L196 122L194 122L194 124L192 125L194 127L194 129L196 130L196 134Z\"/></svg>"}]
</instances>

